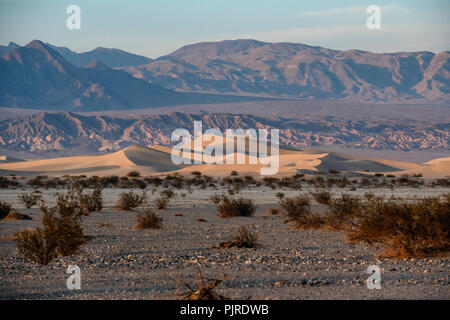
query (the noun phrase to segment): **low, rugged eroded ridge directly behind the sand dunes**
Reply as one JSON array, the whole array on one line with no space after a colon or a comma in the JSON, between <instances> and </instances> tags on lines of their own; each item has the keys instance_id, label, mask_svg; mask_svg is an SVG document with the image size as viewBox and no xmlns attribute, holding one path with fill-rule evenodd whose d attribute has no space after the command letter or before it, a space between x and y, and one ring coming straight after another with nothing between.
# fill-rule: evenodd
<instances>
[{"instance_id":1,"label":"low, rugged eroded ridge directly behind the sand dunes","mask_svg":"<svg viewBox=\"0 0 450 320\"><path fill-rule=\"evenodd\" d=\"M83 148L97 153L133 144L170 145L172 131L186 128L192 132L194 120L203 121L203 130L216 127L222 132L227 128L278 128L280 143L295 148L323 145L403 151L450 148L448 122L296 120L226 113L118 118L41 112L0 121L0 149L47 153Z\"/></svg>"}]
</instances>

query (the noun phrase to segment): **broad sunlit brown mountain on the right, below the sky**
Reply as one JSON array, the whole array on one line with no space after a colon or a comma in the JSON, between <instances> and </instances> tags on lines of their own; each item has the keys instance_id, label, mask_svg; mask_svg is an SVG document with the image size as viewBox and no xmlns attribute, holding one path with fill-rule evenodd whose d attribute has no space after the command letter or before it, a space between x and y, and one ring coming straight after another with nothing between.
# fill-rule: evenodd
<instances>
[{"instance_id":1,"label":"broad sunlit brown mountain on the right, below the sky","mask_svg":"<svg viewBox=\"0 0 450 320\"><path fill-rule=\"evenodd\" d=\"M255 40L185 46L126 67L167 88L378 102L450 101L450 52L376 54Z\"/></svg>"}]
</instances>

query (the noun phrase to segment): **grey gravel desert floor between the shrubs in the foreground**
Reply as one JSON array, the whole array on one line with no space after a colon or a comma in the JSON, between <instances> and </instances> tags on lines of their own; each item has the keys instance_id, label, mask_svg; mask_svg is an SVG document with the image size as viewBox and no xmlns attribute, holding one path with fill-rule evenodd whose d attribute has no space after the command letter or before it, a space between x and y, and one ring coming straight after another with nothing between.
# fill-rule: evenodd
<instances>
[{"instance_id":1,"label":"grey gravel desert floor between the shrubs in the foreground","mask_svg":"<svg viewBox=\"0 0 450 320\"><path fill-rule=\"evenodd\" d=\"M49 204L63 191L42 190ZM39 226L42 213L20 208L17 196L22 190L3 190L0 199L32 220L0 222L0 299L180 299L186 291L183 283L200 282L199 266L205 278L225 277L216 292L230 299L450 299L448 255L381 259L379 248L349 244L344 233L293 230L282 215L268 212L277 207L275 194L280 190L242 190L241 196L255 201L256 214L227 219L217 215L209 200L219 191L194 189L185 197L177 194L167 210L157 211L163 217L162 228L149 230L135 229L135 211L113 208L123 191L105 189L103 210L84 217L84 231L91 240L77 255L43 266L24 259L16 243L8 239ZM282 191L286 196L299 193ZM368 190L357 192L364 191ZM370 191L413 198L448 189ZM325 208L314 204L313 210ZM259 235L258 247L214 248L244 225ZM80 290L67 288L68 265L81 270ZM367 287L371 265L381 269L381 289Z\"/></svg>"}]
</instances>

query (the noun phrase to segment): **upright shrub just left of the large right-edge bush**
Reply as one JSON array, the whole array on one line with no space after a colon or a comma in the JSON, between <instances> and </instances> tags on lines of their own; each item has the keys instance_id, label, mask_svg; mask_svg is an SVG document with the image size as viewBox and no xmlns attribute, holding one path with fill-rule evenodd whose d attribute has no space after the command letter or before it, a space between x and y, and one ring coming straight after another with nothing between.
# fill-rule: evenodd
<instances>
[{"instance_id":1,"label":"upright shrub just left of the large right-edge bush","mask_svg":"<svg viewBox=\"0 0 450 320\"><path fill-rule=\"evenodd\" d=\"M327 225L333 230L346 230L353 226L358 217L361 201L357 196L342 194L328 204Z\"/></svg>"}]
</instances>

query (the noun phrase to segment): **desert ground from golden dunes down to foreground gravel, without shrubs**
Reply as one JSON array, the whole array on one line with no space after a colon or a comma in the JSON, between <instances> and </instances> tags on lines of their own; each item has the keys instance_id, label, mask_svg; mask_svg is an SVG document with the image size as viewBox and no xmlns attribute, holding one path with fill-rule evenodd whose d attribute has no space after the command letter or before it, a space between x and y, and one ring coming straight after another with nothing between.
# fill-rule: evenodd
<instances>
[{"instance_id":1,"label":"desert ground from golden dunes down to foreground gravel, without shrubs","mask_svg":"<svg viewBox=\"0 0 450 320\"><path fill-rule=\"evenodd\" d=\"M450 262L448 252L419 259L382 258L380 244L350 243L345 232L296 229L286 221L279 208L283 197L299 194L311 198L311 211L325 214L327 206L311 197L317 190L309 179L348 179L344 187L328 188L333 198L342 194L364 197L371 193L384 199L395 197L413 201L448 194L448 186L433 184L450 175L449 158L425 164L361 159L320 150L281 149L277 178L294 174L303 177L299 189L263 183L258 166L196 165L176 169L170 162L170 149L133 146L113 154L59 159L11 161L0 165L7 179L21 181L18 186L3 188L0 200L31 220L0 221L0 298L1 299L182 299L196 288L201 278L223 280L215 292L229 299L449 299ZM174 170L176 169L176 170ZM106 187L102 190L103 208L83 217L84 234L89 240L71 256L57 257L40 265L21 255L14 235L41 225L43 213L34 207L24 208L19 196L39 190L46 205L53 206L65 186L47 188L27 184L37 173L43 179L69 176L125 176L138 171L140 179L160 177L174 171L186 179L195 175L212 177L209 185L187 189L172 188L166 209L156 210L162 217L161 228L141 229L136 215L141 209L116 208L121 193L144 192L148 203L168 187L148 184L141 189ZM261 181L239 188L219 183L230 176ZM385 184L362 184L373 177ZM233 175L231 177L233 177ZM407 176L405 176L407 175ZM415 177L413 177L415 175ZM391 178L388 178L391 176ZM396 178L392 178L392 177ZM414 185L391 186L390 180L411 177L421 181ZM321 178L317 178L321 177ZM144 179L145 180L145 179ZM408 179L407 179L408 180ZM252 180L253 181L253 180ZM352 182L353 181L353 184ZM90 190L87 188L86 190ZM223 218L211 197L228 194L251 199L254 215ZM252 248L222 248L221 242L233 239L238 229L247 227L257 235ZM81 289L69 290L66 273L69 265L81 271ZM378 266L381 288L369 289L369 266Z\"/></svg>"}]
</instances>

